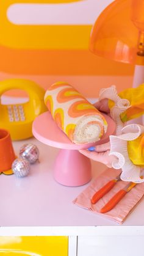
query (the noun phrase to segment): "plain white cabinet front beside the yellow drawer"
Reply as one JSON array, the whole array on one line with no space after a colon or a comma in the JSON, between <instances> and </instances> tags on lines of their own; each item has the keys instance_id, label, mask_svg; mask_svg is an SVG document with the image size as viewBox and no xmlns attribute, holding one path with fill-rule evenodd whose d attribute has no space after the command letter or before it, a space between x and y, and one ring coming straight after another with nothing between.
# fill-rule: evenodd
<instances>
[{"instance_id":1,"label":"plain white cabinet front beside the yellow drawer","mask_svg":"<svg viewBox=\"0 0 144 256\"><path fill-rule=\"evenodd\" d=\"M77 256L143 256L144 236L78 236Z\"/></svg>"}]
</instances>

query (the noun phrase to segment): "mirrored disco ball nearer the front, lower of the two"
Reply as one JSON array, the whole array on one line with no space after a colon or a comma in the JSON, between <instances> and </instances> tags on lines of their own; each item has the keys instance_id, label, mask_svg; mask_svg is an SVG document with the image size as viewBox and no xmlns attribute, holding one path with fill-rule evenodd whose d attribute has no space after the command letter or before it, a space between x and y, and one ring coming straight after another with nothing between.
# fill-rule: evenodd
<instances>
[{"instance_id":1,"label":"mirrored disco ball nearer the front, lower of the two","mask_svg":"<svg viewBox=\"0 0 144 256\"><path fill-rule=\"evenodd\" d=\"M16 177L25 177L29 174L30 164L26 159L17 158L12 163L12 170Z\"/></svg>"}]
</instances>

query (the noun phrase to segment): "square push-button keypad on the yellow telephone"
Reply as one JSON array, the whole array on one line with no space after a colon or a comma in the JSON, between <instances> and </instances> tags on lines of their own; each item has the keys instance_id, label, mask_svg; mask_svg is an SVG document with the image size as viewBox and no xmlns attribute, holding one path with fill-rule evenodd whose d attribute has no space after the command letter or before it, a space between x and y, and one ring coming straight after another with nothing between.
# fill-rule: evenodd
<instances>
[{"instance_id":1,"label":"square push-button keypad on the yellow telephone","mask_svg":"<svg viewBox=\"0 0 144 256\"><path fill-rule=\"evenodd\" d=\"M10 122L25 121L24 109L22 105L7 106L7 111L8 111Z\"/></svg>"}]
</instances>

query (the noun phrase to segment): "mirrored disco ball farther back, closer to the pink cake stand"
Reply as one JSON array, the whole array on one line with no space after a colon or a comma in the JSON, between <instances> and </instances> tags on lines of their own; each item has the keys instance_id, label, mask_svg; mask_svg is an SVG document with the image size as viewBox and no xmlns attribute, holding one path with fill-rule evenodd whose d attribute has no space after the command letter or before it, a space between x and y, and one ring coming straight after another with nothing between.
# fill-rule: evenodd
<instances>
[{"instance_id":1,"label":"mirrored disco ball farther back, closer to the pink cake stand","mask_svg":"<svg viewBox=\"0 0 144 256\"><path fill-rule=\"evenodd\" d=\"M38 161L39 150L34 144L24 144L20 148L20 158L26 159L30 164Z\"/></svg>"}]
</instances>

